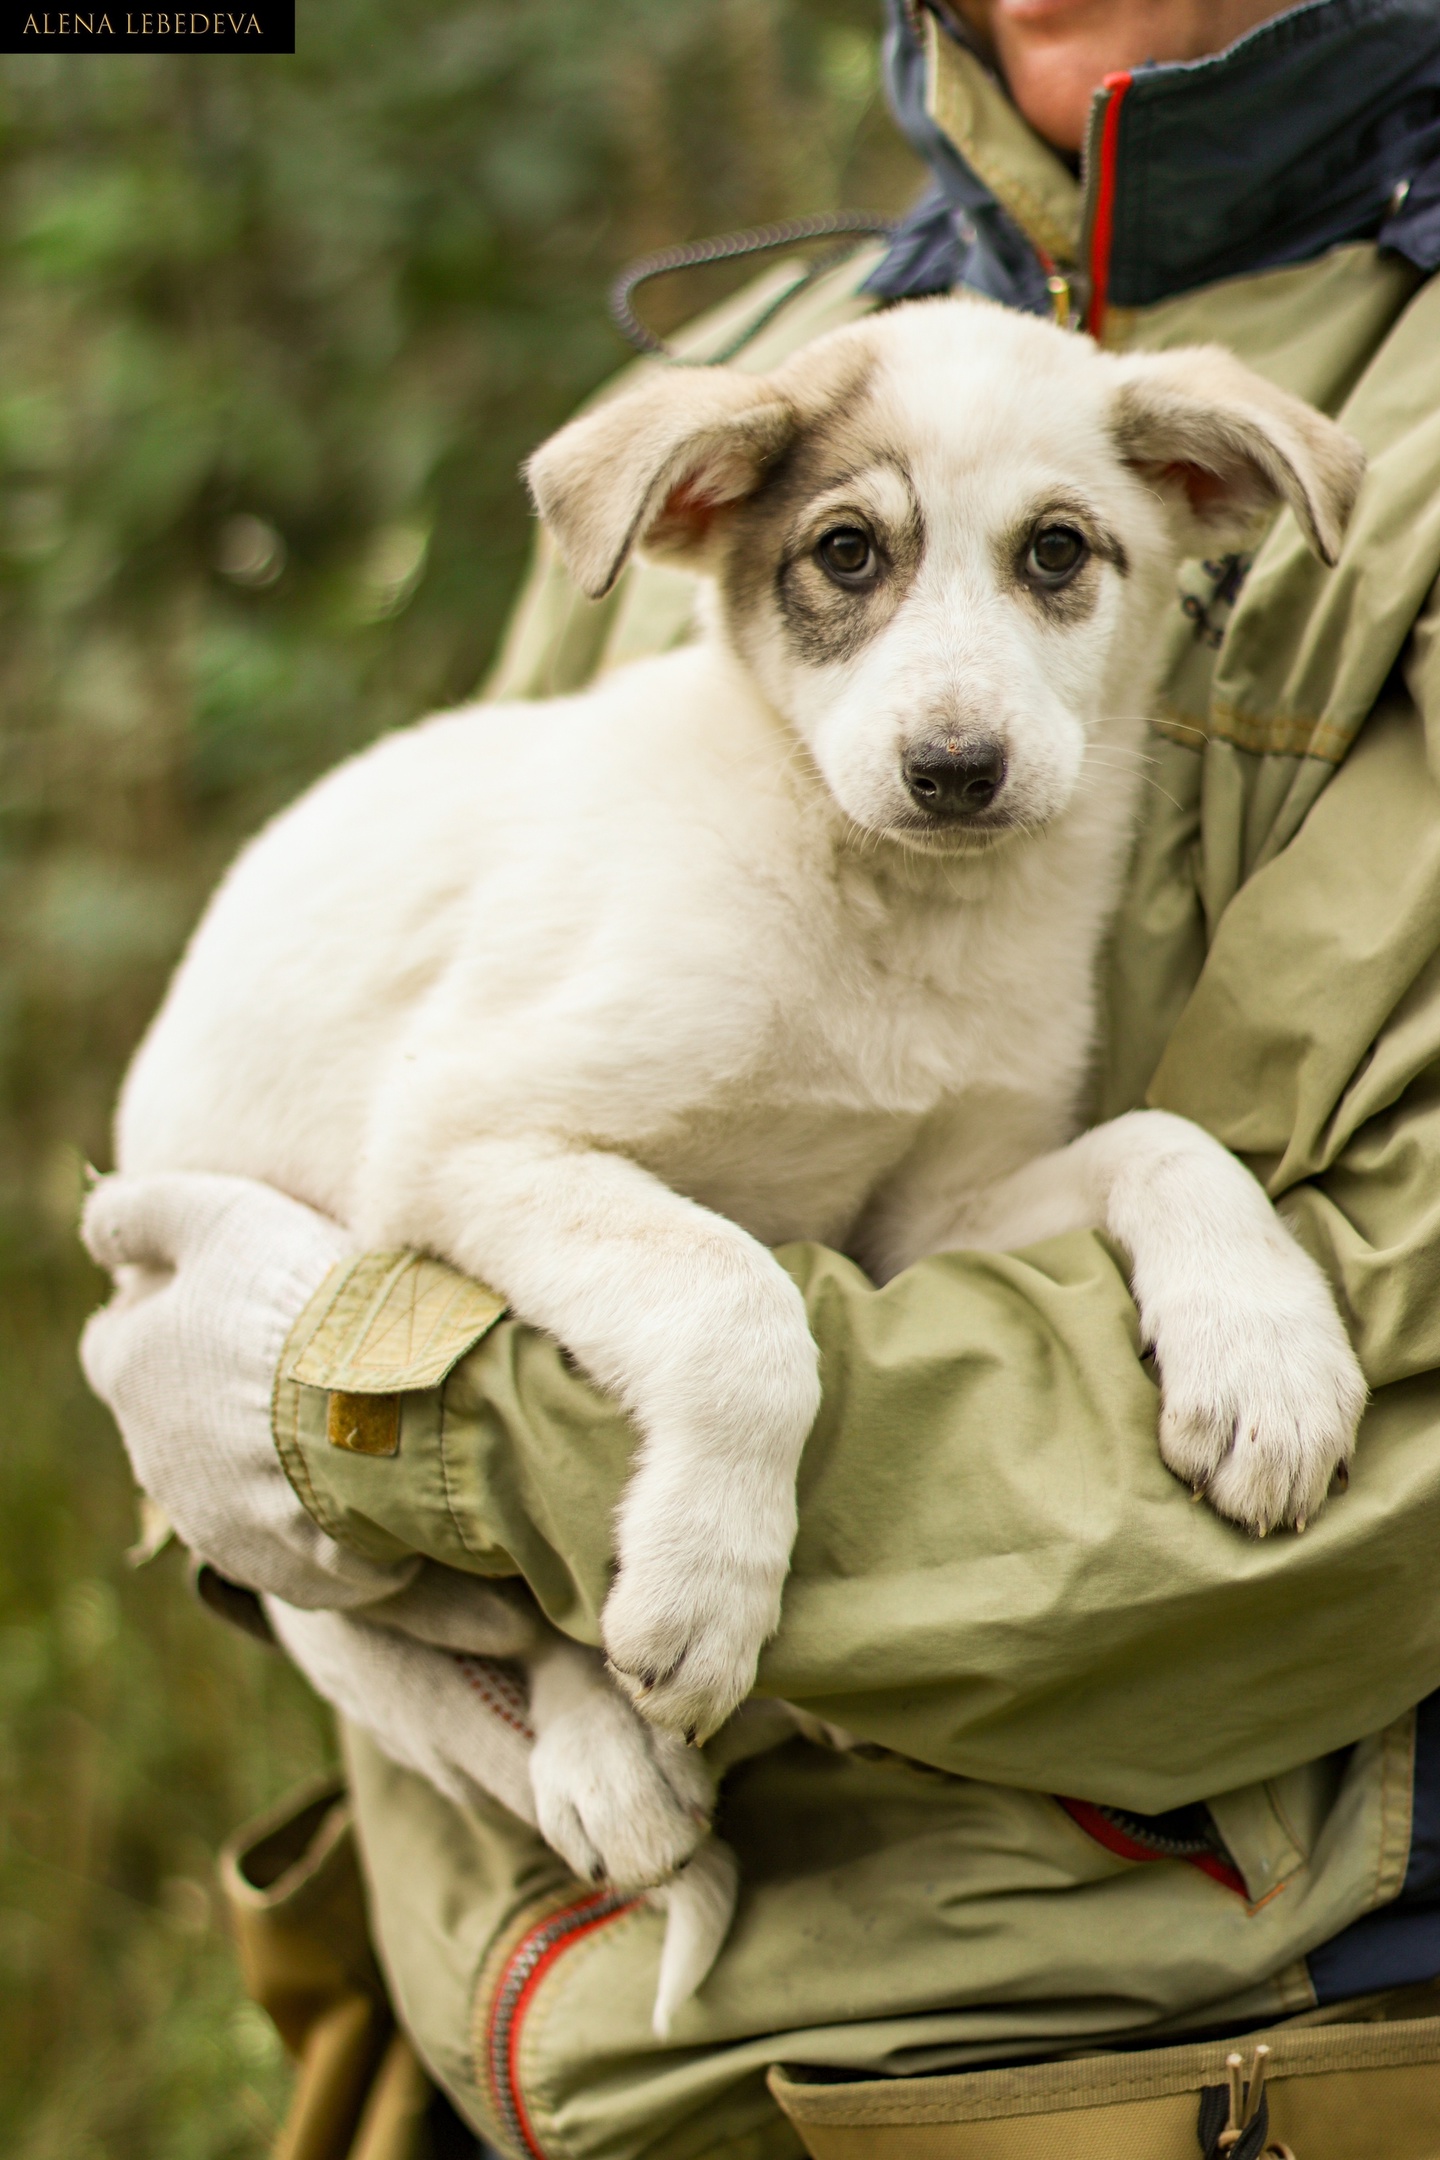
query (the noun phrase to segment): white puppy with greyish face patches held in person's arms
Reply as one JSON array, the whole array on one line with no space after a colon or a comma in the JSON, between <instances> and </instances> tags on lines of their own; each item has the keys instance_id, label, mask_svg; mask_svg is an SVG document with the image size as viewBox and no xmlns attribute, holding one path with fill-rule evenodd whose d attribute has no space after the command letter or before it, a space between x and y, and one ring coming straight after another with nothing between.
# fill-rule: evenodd
<instances>
[{"instance_id":1,"label":"white puppy with greyish face patches held in person's arms","mask_svg":"<svg viewBox=\"0 0 1440 2160\"><path fill-rule=\"evenodd\" d=\"M682 1739L779 1620L818 1380L771 1244L883 1279L1101 1227L1166 1462L1254 1529L1321 1506L1364 1398L1323 1279L1194 1125L1075 1132L1177 564L1276 503L1334 559L1360 462L1220 350L1116 359L984 302L656 372L529 477L589 594L635 546L708 572L699 642L384 739L216 894L121 1169L425 1246L635 1419L602 1635L650 1728L574 1648L535 1700L574 1864L687 1858Z\"/></svg>"}]
</instances>

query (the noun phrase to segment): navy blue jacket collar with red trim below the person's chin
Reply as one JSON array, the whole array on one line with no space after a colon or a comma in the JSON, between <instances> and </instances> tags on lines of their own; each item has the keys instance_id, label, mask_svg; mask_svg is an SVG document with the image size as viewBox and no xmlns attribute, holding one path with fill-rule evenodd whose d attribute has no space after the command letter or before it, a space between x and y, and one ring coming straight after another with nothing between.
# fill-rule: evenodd
<instances>
[{"instance_id":1,"label":"navy blue jacket collar with red trim below the person's chin","mask_svg":"<svg viewBox=\"0 0 1440 2160\"><path fill-rule=\"evenodd\" d=\"M969 285L1047 313L1047 266L928 117L924 50L905 0L887 4L889 99L935 186L870 289L898 300ZM1082 298L1099 276L1112 307L1313 261L1351 240L1434 270L1440 6L1306 0L1207 60L1118 78L1095 97L1084 188ZM1110 244L1090 261L1101 188Z\"/></svg>"}]
</instances>

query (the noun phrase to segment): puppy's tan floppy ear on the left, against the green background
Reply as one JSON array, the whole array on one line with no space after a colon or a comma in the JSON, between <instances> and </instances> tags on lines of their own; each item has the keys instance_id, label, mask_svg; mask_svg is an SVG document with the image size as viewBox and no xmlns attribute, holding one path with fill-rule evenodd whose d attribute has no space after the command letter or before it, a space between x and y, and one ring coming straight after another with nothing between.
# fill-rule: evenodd
<instances>
[{"instance_id":1,"label":"puppy's tan floppy ear on the left, against the green background","mask_svg":"<svg viewBox=\"0 0 1440 2160\"><path fill-rule=\"evenodd\" d=\"M751 492L794 428L764 376L676 367L572 419L525 477L566 568L598 600L635 546L697 562L717 514Z\"/></svg>"}]
</instances>

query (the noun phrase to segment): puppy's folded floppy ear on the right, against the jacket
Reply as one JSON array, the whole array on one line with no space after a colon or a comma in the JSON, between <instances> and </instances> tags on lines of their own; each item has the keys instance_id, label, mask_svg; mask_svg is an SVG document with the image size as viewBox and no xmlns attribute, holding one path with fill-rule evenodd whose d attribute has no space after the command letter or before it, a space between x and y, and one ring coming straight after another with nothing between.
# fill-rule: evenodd
<instances>
[{"instance_id":1,"label":"puppy's folded floppy ear on the right, against the jacket","mask_svg":"<svg viewBox=\"0 0 1440 2160\"><path fill-rule=\"evenodd\" d=\"M1336 559L1364 477L1343 428L1224 346L1138 352L1116 372L1116 445L1168 497L1181 544L1237 542L1259 512L1289 503L1315 555Z\"/></svg>"}]
</instances>

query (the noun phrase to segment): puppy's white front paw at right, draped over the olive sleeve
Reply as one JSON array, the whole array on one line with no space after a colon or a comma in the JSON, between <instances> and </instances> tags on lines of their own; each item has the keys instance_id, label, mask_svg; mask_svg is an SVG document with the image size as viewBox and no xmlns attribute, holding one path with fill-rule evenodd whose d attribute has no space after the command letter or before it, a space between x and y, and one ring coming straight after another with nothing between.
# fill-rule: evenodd
<instances>
[{"instance_id":1,"label":"puppy's white front paw at right, draped over the olive sleeve","mask_svg":"<svg viewBox=\"0 0 1440 2160\"><path fill-rule=\"evenodd\" d=\"M1349 1460L1364 1378L1319 1268L1280 1225L1222 1287L1146 1311L1159 1452L1220 1514L1304 1529Z\"/></svg>"}]
</instances>

